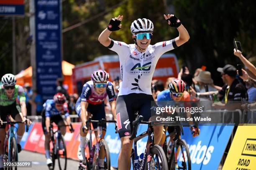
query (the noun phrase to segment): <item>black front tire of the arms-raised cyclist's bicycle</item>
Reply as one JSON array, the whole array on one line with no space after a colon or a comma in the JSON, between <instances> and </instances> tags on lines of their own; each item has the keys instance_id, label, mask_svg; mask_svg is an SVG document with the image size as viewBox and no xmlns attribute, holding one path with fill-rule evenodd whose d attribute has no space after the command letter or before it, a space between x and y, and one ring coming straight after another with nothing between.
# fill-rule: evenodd
<instances>
[{"instance_id":1,"label":"black front tire of the arms-raised cyclist's bicycle","mask_svg":"<svg viewBox=\"0 0 256 170\"><path fill-rule=\"evenodd\" d=\"M150 147L150 154L152 156L152 159L154 155L158 155L159 158L161 159L162 163L162 170L168 170L168 165L167 165L167 160L166 160L166 155L164 154L163 148L159 145L152 145ZM148 170L148 163L146 162L145 170Z\"/></svg>"}]
</instances>

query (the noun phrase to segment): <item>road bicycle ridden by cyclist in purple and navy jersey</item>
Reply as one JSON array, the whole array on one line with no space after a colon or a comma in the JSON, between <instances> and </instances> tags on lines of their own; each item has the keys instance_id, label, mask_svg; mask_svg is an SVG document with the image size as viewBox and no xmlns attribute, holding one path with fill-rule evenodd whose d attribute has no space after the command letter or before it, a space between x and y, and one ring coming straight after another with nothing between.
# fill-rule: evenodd
<instances>
[{"instance_id":1,"label":"road bicycle ridden by cyclist in purple and navy jersey","mask_svg":"<svg viewBox=\"0 0 256 170\"><path fill-rule=\"evenodd\" d=\"M98 127L96 129L91 130L92 122L96 122L98 124ZM105 170L110 170L110 153L108 143L105 139L102 138L102 125L106 122L115 123L116 121L105 119L92 120L92 117L89 117L89 119L86 121L86 126L90 134L90 140L85 146L85 153L89 153L89 156L85 155L87 157L86 165L84 165L82 161L79 162L78 170L99 170L99 160L101 154L104 155L104 167L102 168L104 168ZM92 132L97 132L95 145L92 145Z\"/></svg>"}]
</instances>

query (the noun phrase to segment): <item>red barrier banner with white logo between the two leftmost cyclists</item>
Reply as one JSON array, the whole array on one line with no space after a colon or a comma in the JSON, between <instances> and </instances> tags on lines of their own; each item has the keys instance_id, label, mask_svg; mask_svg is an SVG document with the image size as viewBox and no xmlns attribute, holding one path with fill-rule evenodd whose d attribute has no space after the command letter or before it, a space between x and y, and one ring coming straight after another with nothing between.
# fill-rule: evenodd
<instances>
[{"instance_id":1,"label":"red barrier banner with white logo between the two leftmost cyclists","mask_svg":"<svg viewBox=\"0 0 256 170\"><path fill-rule=\"evenodd\" d=\"M42 135L44 136L44 132L41 123L35 123L28 136L28 140L25 144L24 149L36 152L36 148L39 141L41 140Z\"/></svg>"}]
</instances>

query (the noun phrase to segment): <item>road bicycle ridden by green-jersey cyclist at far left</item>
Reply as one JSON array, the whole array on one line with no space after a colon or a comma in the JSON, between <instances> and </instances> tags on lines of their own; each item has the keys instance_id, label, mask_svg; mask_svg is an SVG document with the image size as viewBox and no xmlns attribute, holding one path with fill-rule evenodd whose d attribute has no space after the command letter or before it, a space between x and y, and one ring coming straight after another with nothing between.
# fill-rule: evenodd
<instances>
[{"instance_id":1,"label":"road bicycle ridden by green-jersey cyclist at far left","mask_svg":"<svg viewBox=\"0 0 256 170\"><path fill-rule=\"evenodd\" d=\"M9 121L9 117L7 117L7 122L3 122L3 124L7 124L7 133L5 134L5 142L4 142L4 156L3 162L8 163L11 161L18 161L18 147L17 147L17 140L14 133L14 125L16 123L26 123L26 132L28 132L28 124L26 121L21 122L11 122ZM17 128L16 128L17 129ZM17 167L8 167L5 170L17 170Z\"/></svg>"}]
</instances>

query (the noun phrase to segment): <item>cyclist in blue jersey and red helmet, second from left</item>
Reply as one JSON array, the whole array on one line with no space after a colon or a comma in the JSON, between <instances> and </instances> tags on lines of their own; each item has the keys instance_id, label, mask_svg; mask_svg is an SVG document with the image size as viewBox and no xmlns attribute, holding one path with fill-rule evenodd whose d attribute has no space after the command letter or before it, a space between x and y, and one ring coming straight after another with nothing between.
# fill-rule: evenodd
<instances>
[{"instance_id":1,"label":"cyclist in blue jersey and red helmet, second from left","mask_svg":"<svg viewBox=\"0 0 256 170\"><path fill-rule=\"evenodd\" d=\"M51 155L50 155L50 138L51 138L51 135L49 133L50 123L52 121L56 125L61 126L60 127L61 135L65 135L66 133L66 127L62 126L62 125L65 125L65 122L61 117L61 115L65 115L68 125L70 125L71 123L66 100L67 99L64 94L60 92L56 93L53 97L53 100L46 100L46 102L44 103L44 110L41 113L42 128L45 135L44 149L45 149L45 156L46 156L46 164L49 166L49 168L52 168L53 166Z\"/></svg>"}]
</instances>

